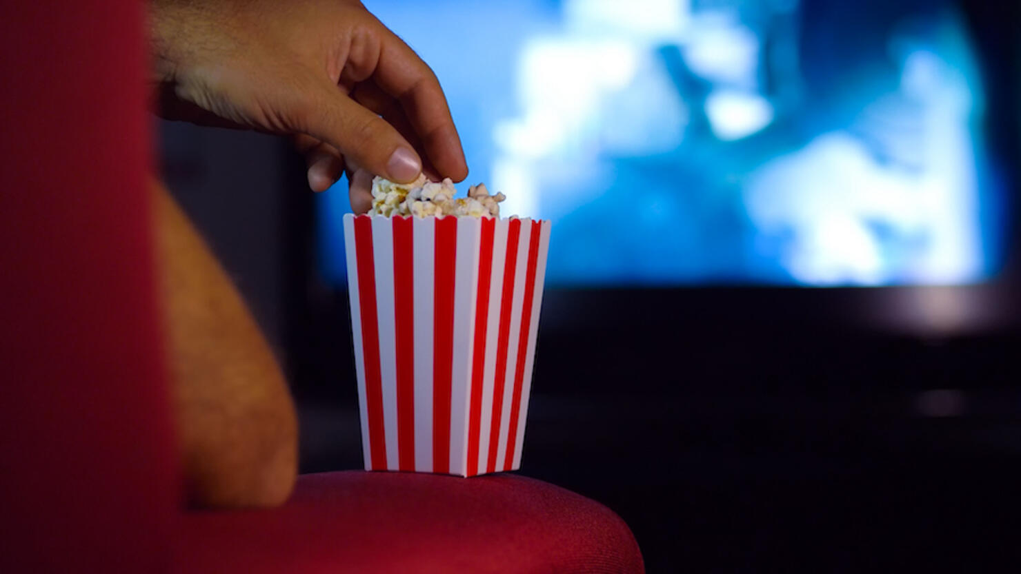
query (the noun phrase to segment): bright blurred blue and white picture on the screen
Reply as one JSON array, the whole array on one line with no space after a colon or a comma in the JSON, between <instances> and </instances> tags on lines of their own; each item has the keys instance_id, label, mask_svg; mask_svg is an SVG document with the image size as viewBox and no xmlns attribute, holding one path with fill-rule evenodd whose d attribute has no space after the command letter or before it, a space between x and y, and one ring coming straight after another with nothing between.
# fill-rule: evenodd
<instances>
[{"instance_id":1,"label":"bright blurred blue and white picture on the screen","mask_svg":"<svg viewBox=\"0 0 1021 574\"><path fill-rule=\"evenodd\" d=\"M551 282L946 283L996 264L953 3L366 4L435 68L469 182L553 221ZM337 192L321 227L342 276Z\"/></svg>"}]
</instances>

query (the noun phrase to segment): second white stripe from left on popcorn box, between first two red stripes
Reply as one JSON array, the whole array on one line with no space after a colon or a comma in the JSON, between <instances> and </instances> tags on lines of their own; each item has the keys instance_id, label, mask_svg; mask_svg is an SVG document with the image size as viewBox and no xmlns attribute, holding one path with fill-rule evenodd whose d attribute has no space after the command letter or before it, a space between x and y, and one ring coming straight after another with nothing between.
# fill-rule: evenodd
<instances>
[{"instance_id":1,"label":"second white stripe from left on popcorn box, between first two red stripes","mask_svg":"<svg viewBox=\"0 0 1021 574\"><path fill-rule=\"evenodd\" d=\"M393 220L373 217L373 258L376 262L376 315L380 329L380 380L383 386L383 435L387 470L397 470L397 357L393 311Z\"/></svg>"}]
</instances>

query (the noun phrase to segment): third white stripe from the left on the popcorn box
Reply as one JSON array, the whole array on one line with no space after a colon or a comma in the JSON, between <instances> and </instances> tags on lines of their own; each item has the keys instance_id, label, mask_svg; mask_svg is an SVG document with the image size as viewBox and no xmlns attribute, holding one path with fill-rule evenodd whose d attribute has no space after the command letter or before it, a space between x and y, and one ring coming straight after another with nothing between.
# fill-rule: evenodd
<instances>
[{"instance_id":1,"label":"third white stripe from the left on the popcorn box","mask_svg":"<svg viewBox=\"0 0 1021 574\"><path fill-rule=\"evenodd\" d=\"M415 470L433 470L433 291L435 221L411 218L415 273Z\"/></svg>"}]
</instances>

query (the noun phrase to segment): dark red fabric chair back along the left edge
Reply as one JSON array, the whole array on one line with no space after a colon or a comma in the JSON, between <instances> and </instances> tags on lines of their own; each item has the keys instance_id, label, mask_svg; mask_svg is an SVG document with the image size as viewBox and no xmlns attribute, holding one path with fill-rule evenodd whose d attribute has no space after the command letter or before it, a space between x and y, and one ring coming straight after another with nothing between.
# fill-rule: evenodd
<instances>
[{"instance_id":1,"label":"dark red fabric chair back along the left edge","mask_svg":"<svg viewBox=\"0 0 1021 574\"><path fill-rule=\"evenodd\" d=\"M0 572L168 561L144 7L0 7Z\"/></svg>"}]
</instances>

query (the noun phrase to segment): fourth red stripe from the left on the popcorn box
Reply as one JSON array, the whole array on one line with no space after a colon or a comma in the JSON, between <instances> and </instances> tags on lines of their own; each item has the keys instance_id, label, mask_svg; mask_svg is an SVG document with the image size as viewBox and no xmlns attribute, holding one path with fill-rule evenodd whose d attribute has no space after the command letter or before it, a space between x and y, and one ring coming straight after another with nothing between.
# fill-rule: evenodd
<instances>
[{"instance_id":1,"label":"fourth red stripe from the left on the popcorn box","mask_svg":"<svg viewBox=\"0 0 1021 574\"><path fill-rule=\"evenodd\" d=\"M493 230L496 220L482 218L479 238L479 292L475 300L475 352L472 358L472 406L468 419L468 475L479 472L479 433L482 425L482 377L486 368L486 328L489 319L489 283L493 269Z\"/></svg>"}]
</instances>

